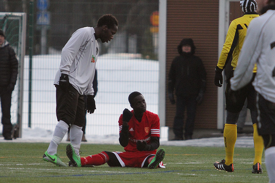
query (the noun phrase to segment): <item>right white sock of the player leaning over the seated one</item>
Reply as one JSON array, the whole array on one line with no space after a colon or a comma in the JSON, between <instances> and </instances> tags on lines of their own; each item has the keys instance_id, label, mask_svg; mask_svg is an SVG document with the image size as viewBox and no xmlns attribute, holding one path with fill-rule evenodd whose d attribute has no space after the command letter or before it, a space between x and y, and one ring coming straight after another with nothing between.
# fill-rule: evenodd
<instances>
[{"instance_id":1,"label":"right white sock of the player leaning over the seated one","mask_svg":"<svg viewBox=\"0 0 275 183\"><path fill-rule=\"evenodd\" d=\"M80 149L80 144L81 144L81 139L83 134L83 131L81 129L82 127L76 126L74 124L71 125L71 130L70 130L71 145L74 147L76 154L79 154L79 149Z\"/></svg>"}]
</instances>

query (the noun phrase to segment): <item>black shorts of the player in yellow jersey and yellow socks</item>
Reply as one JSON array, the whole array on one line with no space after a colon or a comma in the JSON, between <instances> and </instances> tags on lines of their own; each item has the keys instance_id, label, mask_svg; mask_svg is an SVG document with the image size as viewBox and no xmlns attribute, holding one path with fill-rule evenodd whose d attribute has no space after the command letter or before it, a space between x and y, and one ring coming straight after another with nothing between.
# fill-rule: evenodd
<instances>
[{"instance_id":1,"label":"black shorts of the player in yellow jersey and yellow socks","mask_svg":"<svg viewBox=\"0 0 275 183\"><path fill-rule=\"evenodd\" d=\"M233 77L233 71L234 70L231 71L230 77L226 85L226 110L231 113L239 113L244 106L245 99L247 98L247 108L251 111L256 111L256 91L252 85L256 73L253 74L253 78L250 83L238 90L237 102L233 102L227 93L228 89L230 88L230 78Z\"/></svg>"}]
</instances>

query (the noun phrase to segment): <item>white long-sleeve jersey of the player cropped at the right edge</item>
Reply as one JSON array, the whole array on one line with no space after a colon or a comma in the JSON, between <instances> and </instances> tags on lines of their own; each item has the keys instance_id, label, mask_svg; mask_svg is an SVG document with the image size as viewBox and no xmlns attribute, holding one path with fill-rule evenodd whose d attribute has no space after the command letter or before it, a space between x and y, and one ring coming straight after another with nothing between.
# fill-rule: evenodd
<instances>
[{"instance_id":1,"label":"white long-sleeve jersey of the player cropped at the right edge","mask_svg":"<svg viewBox=\"0 0 275 183\"><path fill-rule=\"evenodd\" d=\"M232 90L251 81L255 63L257 74L252 84L266 100L275 103L275 10L268 10L249 24L234 77L230 80Z\"/></svg>"}]
</instances>

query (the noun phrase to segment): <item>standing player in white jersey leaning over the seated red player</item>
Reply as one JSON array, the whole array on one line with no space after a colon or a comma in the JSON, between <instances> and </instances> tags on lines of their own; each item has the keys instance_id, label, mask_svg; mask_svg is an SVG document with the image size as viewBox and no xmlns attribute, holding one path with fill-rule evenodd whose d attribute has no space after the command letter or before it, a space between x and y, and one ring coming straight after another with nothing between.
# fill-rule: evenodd
<instances>
[{"instance_id":1,"label":"standing player in white jersey leaning over the seated red player","mask_svg":"<svg viewBox=\"0 0 275 183\"><path fill-rule=\"evenodd\" d=\"M98 56L97 39L108 43L114 38L117 28L116 17L103 15L98 19L96 27L76 30L62 49L60 67L54 80L58 123L43 160L57 166L67 166L57 155L57 146L67 133L69 125L71 144L75 152L79 152L85 117L83 94L87 96L87 112L91 114L96 109L92 82Z\"/></svg>"}]
</instances>

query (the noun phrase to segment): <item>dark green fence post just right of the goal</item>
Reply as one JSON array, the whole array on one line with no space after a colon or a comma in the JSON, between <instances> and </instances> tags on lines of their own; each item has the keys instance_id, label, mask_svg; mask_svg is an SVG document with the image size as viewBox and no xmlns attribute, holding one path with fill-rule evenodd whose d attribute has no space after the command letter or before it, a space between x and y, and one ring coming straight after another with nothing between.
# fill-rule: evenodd
<instances>
[{"instance_id":1,"label":"dark green fence post just right of the goal","mask_svg":"<svg viewBox=\"0 0 275 183\"><path fill-rule=\"evenodd\" d=\"M31 127L31 85L32 85L33 26L34 26L34 0L31 0L30 1L30 14L29 14L29 111L28 111L28 127Z\"/></svg>"}]
</instances>

